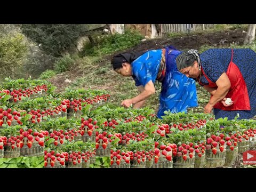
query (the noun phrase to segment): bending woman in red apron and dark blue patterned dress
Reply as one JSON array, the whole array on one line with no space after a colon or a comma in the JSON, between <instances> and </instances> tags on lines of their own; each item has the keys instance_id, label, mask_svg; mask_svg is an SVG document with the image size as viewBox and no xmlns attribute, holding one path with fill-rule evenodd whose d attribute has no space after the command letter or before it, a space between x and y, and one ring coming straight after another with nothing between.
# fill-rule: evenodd
<instances>
[{"instance_id":1,"label":"bending woman in red apron and dark blue patterned dress","mask_svg":"<svg viewBox=\"0 0 256 192\"><path fill-rule=\"evenodd\" d=\"M183 52L177 59L178 70L194 78L211 99L205 113L213 109L215 118L252 118L256 115L256 53L250 49L209 49ZM225 103L231 98L230 105Z\"/></svg>"}]
</instances>

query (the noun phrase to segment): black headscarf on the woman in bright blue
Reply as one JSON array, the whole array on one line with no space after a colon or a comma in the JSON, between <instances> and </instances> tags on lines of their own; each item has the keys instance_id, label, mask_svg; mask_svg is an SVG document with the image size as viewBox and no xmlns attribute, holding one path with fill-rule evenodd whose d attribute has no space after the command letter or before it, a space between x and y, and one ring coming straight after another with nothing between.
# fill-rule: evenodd
<instances>
[{"instance_id":1,"label":"black headscarf on the woman in bright blue","mask_svg":"<svg viewBox=\"0 0 256 192\"><path fill-rule=\"evenodd\" d=\"M146 52L147 51L142 51L142 52L138 52L138 53L125 52L125 53L119 53L119 54L115 55L111 59L111 64L113 66L113 69L115 70L115 69L121 68L122 63L124 63L124 62L132 63L132 61L134 61L135 59L140 57L140 55L142 55Z\"/></svg>"}]
</instances>

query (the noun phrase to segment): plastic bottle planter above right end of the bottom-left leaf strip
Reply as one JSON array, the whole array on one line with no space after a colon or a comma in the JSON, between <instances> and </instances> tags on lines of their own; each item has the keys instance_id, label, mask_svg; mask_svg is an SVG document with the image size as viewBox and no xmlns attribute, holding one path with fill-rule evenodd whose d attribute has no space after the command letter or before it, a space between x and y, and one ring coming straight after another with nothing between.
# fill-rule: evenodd
<instances>
[{"instance_id":1,"label":"plastic bottle planter above right end of the bottom-left leaf strip","mask_svg":"<svg viewBox=\"0 0 256 192\"><path fill-rule=\"evenodd\" d=\"M20 156L32 157L32 156L44 156L44 147L40 146L35 140L32 146L27 146L28 138L24 138L24 145L20 148Z\"/></svg>"}]
</instances>

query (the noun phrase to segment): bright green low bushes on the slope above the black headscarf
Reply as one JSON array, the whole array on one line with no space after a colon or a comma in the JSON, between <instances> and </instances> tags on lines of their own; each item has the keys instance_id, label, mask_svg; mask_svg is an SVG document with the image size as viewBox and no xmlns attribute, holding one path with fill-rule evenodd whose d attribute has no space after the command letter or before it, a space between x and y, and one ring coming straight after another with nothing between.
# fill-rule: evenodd
<instances>
[{"instance_id":1,"label":"bright green low bushes on the slope above the black headscarf","mask_svg":"<svg viewBox=\"0 0 256 192\"><path fill-rule=\"evenodd\" d=\"M127 29L124 34L114 34L102 36L99 34L93 35L95 45L85 43L80 56L85 55L105 55L120 50L128 49L137 45L143 36L135 30Z\"/></svg>"}]
</instances>

